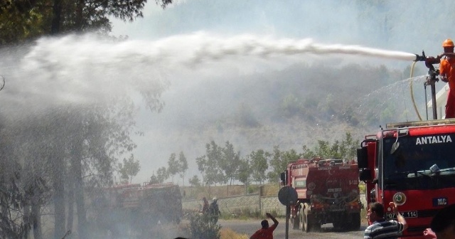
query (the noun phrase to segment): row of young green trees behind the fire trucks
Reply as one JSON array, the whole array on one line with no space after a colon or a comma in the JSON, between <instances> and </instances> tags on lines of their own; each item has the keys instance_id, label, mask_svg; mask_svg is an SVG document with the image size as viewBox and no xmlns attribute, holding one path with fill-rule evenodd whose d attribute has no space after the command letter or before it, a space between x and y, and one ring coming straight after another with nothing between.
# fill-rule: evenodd
<instances>
[{"instance_id":1,"label":"row of young green trees behind the fire trucks","mask_svg":"<svg viewBox=\"0 0 455 239\"><path fill-rule=\"evenodd\" d=\"M279 174L291 161L314 157L351 160L355 159L358 147L359 141L353 139L349 132L346 132L344 139L334 142L319 140L312 148L303 145L300 152L295 149L285 151L275 146L272 151L257 149L250 154L241 155L229 141L225 142L224 146L211 141L205 145L205 154L196 158L200 174L192 176L188 183L191 186L210 187L216 184L229 186L233 181L240 181L245 185L252 182L277 182ZM178 160L173 153L168 159L168 167L159 168L156 174L151 176L151 183L163 183L169 176L176 174L180 174L184 179L186 169L188 163L183 152L180 152Z\"/></svg>"}]
</instances>

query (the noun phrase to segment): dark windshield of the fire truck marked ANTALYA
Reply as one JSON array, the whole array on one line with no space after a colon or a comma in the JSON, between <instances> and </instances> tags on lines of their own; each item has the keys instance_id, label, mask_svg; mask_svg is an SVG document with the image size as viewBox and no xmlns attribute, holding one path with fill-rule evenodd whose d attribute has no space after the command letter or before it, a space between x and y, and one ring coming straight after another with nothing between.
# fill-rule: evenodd
<instances>
[{"instance_id":1,"label":"dark windshield of the fire truck marked ANTALYA","mask_svg":"<svg viewBox=\"0 0 455 239\"><path fill-rule=\"evenodd\" d=\"M447 188L455 184L455 134L399 137L382 142L385 188L406 190Z\"/></svg>"}]
</instances>

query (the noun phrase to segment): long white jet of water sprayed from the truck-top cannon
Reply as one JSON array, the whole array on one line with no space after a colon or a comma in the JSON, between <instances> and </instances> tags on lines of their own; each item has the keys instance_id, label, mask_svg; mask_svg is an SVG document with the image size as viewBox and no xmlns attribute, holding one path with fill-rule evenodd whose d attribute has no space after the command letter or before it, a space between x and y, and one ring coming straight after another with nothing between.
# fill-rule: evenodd
<instances>
[{"instance_id":1,"label":"long white jet of water sprayed from the truck-top cannon","mask_svg":"<svg viewBox=\"0 0 455 239\"><path fill-rule=\"evenodd\" d=\"M31 102L47 99L55 104L109 100L112 95L144 90L159 94L166 85L162 75L183 66L192 68L218 60L238 64L241 62L238 59L246 56L273 60L274 56L298 58L304 54L365 55L410 61L416 57L412 53L363 46L326 45L309 38L225 37L198 32L154 41L114 42L92 35L70 35L41 38L20 56L18 65L0 66L0 73L11 81L0 97Z\"/></svg>"}]
</instances>

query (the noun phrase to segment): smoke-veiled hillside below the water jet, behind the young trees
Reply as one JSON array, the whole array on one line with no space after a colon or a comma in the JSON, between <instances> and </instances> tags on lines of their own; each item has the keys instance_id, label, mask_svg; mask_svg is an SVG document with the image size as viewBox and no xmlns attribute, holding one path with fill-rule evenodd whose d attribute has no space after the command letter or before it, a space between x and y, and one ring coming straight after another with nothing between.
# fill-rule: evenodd
<instances>
[{"instance_id":1,"label":"smoke-veiled hillside below the water jet, behind the young trees","mask_svg":"<svg viewBox=\"0 0 455 239\"><path fill-rule=\"evenodd\" d=\"M145 137L138 141L143 151L137 155L152 159L141 161L146 169L141 181L179 152L188 160L186 178L199 175L196 158L212 140L229 141L242 157L257 149L272 152L275 146L301 152L318 140L342 140L346 132L361 141L387 122L417 120L404 76L409 68L301 63L247 74L230 69L216 76L188 74L171 82L162 112L139 119ZM424 115L424 76L412 80L414 101Z\"/></svg>"}]
</instances>

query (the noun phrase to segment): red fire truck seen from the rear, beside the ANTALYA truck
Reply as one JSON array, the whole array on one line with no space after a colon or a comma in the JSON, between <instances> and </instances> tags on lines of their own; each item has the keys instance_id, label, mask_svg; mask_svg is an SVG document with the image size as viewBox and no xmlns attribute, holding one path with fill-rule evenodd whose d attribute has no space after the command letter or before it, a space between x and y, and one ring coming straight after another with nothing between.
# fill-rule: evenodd
<instances>
[{"instance_id":1,"label":"red fire truck seen from the rear, beside the ANTALYA truck","mask_svg":"<svg viewBox=\"0 0 455 239\"><path fill-rule=\"evenodd\" d=\"M360 228L358 166L341 159L299 159L281 174L282 184L296 189L297 202L290 207L294 229L319 230L333 223L338 230Z\"/></svg>"}]
</instances>

